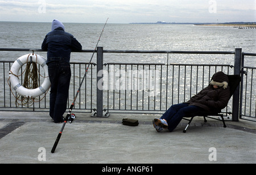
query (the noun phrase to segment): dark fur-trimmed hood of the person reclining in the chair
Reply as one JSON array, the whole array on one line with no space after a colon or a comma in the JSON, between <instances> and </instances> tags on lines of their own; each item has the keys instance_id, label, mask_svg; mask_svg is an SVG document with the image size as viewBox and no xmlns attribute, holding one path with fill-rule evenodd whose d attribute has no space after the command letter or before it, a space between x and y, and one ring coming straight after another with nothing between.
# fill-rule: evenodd
<instances>
[{"instance_id":1,"label":"dark fur-trimmed hood of the person reclining in the chair","mask_svg":"<svg viewBox=\"0 0 256 175\"><path fill-rule=\"evenodd\" d=\"M210 81L210 85L217 85L218 87L223 87L226 89L229 84L228 76L223 72L214 73L212 76L212 80Z\"/></svg>"}]
</instances>

